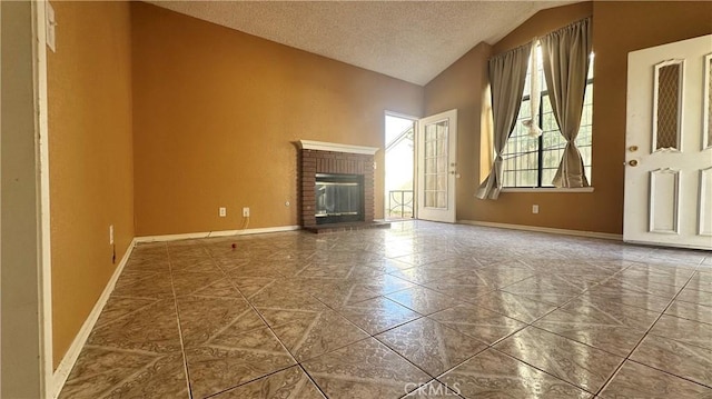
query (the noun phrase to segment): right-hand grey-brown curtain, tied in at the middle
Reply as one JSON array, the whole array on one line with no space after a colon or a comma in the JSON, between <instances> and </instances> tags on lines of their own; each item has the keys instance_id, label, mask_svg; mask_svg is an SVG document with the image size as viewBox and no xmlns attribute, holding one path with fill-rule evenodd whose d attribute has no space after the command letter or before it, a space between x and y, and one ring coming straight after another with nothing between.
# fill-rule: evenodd
<instances>
[{"instance_id":1,"label":"right-hand grey-brown curtain, tied in at the middle","mask_svg":"<svg viewBox=\"0 0 712 399\"><path fill-rule=\"evenodd\" d=\"M544 78L554 118L566 139L564 154L554 176L556 187L587 187L583 158L576 148L581 124L589 57L592 49L591 18L540 38Z\"/></svg>"}]
</instances>

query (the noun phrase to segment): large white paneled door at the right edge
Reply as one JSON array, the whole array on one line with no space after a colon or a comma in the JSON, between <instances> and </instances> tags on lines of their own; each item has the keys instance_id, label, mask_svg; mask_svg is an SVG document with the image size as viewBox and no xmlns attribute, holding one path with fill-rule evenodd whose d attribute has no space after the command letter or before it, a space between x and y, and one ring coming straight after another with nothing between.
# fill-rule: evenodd
<instances>
[{"instance_id":1,"label":"large white paneled door at the right edge","mask_svg":"<svg viewBox=\"0 0 712 399\"><path fill-rule=\"evenodd\" d=\"M711 52L705 36L629 53L627 242L712 249Z\"/></svg>"}]
</instances>

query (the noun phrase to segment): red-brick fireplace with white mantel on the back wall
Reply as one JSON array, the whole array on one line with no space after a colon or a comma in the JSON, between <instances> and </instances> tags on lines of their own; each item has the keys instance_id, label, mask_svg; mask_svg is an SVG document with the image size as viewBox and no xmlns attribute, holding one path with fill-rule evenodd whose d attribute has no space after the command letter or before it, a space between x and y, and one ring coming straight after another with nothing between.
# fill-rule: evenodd
<instances>
[{"instance_id":1,"label":"red-brick fireplace with white mantel on the back wall","mask_svg":"<svg viewBox=\"0 0 712 399\"><path fill-rule=\"evenodd\" d=\"M373 223L374 154L378 149L310 140L300 140L298 144L301 226L310 229L317 226L325 228ZM320 181L319 186L317 181ZM362 191L356 193L354 186L358 186ZM318 192L326 189L329 192L340 190L340 197L346 197L342 202L346 205L335 209L332 199L332 206L325 207L325 196ZM353 209L346 209L347 206L353 206ZM327 208L334 213L326 215Z\"/></svg>"}]
</instances>

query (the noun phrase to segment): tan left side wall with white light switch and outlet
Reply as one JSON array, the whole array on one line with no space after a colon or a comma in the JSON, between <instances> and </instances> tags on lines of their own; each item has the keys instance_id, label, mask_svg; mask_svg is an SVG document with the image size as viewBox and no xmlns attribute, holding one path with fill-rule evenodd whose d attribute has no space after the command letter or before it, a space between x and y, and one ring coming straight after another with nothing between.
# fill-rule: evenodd
<instances>
[{"instance_id":1,"label":"tan left side wall with white light switch and outlet","mask_svg":"<svg viewBox=\"0 0 712 399\"><path fill-rule=\"evenodd\" d=\"M55 366L134 238L130 10L52 2L48 52Z\"/></svg>"}]
</instances>

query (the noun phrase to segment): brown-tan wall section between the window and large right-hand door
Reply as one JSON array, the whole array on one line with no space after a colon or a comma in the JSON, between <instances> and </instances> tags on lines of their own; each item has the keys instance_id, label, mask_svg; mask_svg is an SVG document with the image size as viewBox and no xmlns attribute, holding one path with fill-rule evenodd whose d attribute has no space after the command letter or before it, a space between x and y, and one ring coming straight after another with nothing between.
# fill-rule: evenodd
<instances>
[{"instance_id":1,"label":"brown-tan wall section between the window and large right-hand door","mask_svg":"<svg viewBox=\"0 0 712 399\"><path fill-rule=\"evenodd\" d=\"M622 233L627 53L712 33L712 2L595 1L593 12L593 178L613 231Z\"/></svg>"}]
</instances>

